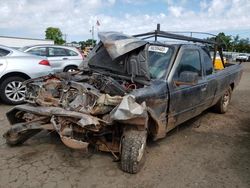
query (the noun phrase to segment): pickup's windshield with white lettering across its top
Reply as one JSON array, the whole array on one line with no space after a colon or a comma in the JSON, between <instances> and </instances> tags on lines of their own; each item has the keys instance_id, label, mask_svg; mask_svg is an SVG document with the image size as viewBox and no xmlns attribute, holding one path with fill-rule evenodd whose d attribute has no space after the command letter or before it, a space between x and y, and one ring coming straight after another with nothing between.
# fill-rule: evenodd
<instances>
[{"instance_id":1,"label":"pickup's windshield with white lettering across its top","mask_svg":"<svg viewBox=\"0 0 250 188\"><path fill-rule=\"evenodd\" d=\"M173 49L165 46L150 45L148 48L148 67L151 78L159 79L166 74Z\"/></svg>"}]
</instances>

